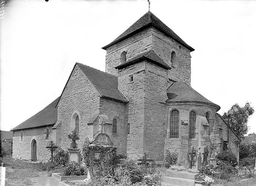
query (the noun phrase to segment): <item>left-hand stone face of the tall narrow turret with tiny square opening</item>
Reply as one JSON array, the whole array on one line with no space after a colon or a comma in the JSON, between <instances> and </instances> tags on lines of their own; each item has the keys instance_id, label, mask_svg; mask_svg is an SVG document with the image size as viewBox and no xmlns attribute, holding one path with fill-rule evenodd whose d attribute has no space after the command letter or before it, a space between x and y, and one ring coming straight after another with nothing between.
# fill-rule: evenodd
<instances>
[{"instance_id":1,"label":"left-hand stone face of the tall narrow turret with tiny square opening","mask_svg":"<svg viewBox=\"0 0 256 186\"><path fill-rule=\"evenodd\" d=\"M133 81L129 81L130 74L133 74ZM129 100L127 155L139 158L144 153L145 61L119 69L118 88Z\"/></svg>"}]
</instances>

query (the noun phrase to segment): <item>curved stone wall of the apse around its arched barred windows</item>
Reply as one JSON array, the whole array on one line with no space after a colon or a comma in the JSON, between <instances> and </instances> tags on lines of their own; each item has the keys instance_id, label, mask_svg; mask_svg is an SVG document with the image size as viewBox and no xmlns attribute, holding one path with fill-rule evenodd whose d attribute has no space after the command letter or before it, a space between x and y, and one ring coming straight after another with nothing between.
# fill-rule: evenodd
<instances>
[{"instance_id":1,"label":"curved stone wall of the apse around its arched barred windows","mask_svg":"<svg viewBox=\"0 0 256 186\"><path fill-rule=\"evenodd\" d=\"M167 103L165 112L165 149L176 151L178 153L178 163L188 166L187 153L191 151L192 146L203 148L210 144L209 126L203 126L203 121L206 120L206 112L210 113L210 125L215 118L216 108L207 104L199 103ZM179 111L179 138L170 138L170 115L173 110ZM196 113L196 131L195 139L189 138L189 113ZM205 120L203 120L205 118Z\"/></svg>"}]
</instances>

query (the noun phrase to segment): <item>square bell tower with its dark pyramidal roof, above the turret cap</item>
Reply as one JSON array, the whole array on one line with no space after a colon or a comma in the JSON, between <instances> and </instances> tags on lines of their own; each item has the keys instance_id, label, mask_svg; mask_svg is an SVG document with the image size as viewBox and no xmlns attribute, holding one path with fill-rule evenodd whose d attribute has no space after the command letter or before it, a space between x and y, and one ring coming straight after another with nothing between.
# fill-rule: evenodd
<instances>
[{"instance_id":1,"label":"square bell tower with its dark pyramidal roof, above the turret cap","mask_svg":"<svg viewBox=\"0 0 256 186\"><path fill-rule=\"evenodd\" d=\"M167 80L169 82L183 81L190 85L190 52L194 49L150 11L103 49L107 50L107 73L117 76L115 66L121 64L123 51L127 53L126 60L130 60L139 54L153 50L157 56L171 66L168 70Z\"/></svg>"}]
</instances>

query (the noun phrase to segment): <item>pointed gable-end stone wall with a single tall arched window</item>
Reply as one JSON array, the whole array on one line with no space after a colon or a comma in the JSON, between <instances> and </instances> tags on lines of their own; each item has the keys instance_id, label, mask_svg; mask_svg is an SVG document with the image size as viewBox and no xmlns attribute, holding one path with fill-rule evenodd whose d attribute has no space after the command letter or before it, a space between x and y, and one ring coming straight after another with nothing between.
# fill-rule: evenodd
<instances>
[{"instance_id":1,"label":"pointed gable-end stone wall with a single tall arched window","mask_svg":"<svg viewBox=\"0 0 256 186\"><path fill-rule=\"evenodd\" d=\"M70 146L68 134L74 130L71 127L71 117L78 112L79 135L78 147L81 148L85 137L87 137L87 121L93 114L99 113L99 94L91 85L83 72L76 65L65 90L58 103L58 120L61 122L61 148L67 150Z\"/></svg>"}]
</instances>

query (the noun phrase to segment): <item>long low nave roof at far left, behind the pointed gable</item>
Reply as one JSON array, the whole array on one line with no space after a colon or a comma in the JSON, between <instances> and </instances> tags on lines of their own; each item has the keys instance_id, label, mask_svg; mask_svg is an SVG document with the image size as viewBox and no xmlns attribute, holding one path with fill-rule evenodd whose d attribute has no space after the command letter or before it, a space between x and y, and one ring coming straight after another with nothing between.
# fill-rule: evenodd
<instances>
[{"instance_id":1,"label":"long low nave roof at far left, behind the pointed gable","mask_svg":"<svg viewBox=\"0 0 256 186\"><path fill-rule=\"evenodd\" d=\"M50 126L54 125L57 122L57 108L56 105L59 101L60 97L47 105L43 110L22 122L11 131L21 130L21 129L29 129L29 128L37 128L42 126Z\"/></svg>"}]
</instances>

